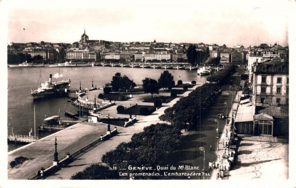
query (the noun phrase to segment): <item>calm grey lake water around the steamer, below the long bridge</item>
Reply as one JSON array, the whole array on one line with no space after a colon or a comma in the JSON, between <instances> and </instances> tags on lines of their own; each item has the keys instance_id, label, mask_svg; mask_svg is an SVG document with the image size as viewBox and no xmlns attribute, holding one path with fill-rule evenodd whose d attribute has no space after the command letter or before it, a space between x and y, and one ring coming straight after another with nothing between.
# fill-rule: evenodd
<instances>
[{"instance_id":1,"label":"calm grey lake water around the steamer, below the long bridge","mask_svg":"<svg viewBox=\"0 0 296 188\"><path fill-rule=\"evenodd\" d=\"M48 133L38 133L38 125L42 124L45 115L47 117L60 115L64 117L65 103L68 100L64 98L50 98L34 101L31 96L31 89L37 88L37 83L41 72L41 82L48 81L49 74L59 73L60 79L70 79L70 90L79 88L91 88L92 79L94 86L103 87L105 83L110 83L112 76L116 72L126 75L134 80L136 84L142 84L145 77L158 79L164 69L150 68L126 68L126 67L12 67L8 68L8 109L7 109L7 131L11 134L29 135L31 128L34 135L34 105L36 110L36 136L42 138ZM183 82L205 82L206 77L197 76L196 70L168 70L174 80ZM53 80L55 80L53 78ZM59 113L61 109L61 113ZM19 146L8 145L8 151Z\"/></svg>"}]
</instances>

